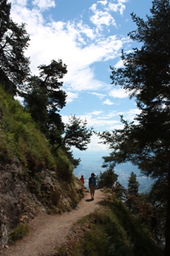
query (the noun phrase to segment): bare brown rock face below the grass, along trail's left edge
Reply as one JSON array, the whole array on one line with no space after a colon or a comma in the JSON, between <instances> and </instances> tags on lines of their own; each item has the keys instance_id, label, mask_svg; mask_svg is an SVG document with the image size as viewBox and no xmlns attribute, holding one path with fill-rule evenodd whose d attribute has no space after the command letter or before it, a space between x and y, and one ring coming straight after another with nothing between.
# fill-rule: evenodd
<instances>
[{"instance_id":1,"label":"bare brown rock face below the grass, along trail's left edge","mask_svg":"<svg viewBox=\"0 0 170 256\"><path fill-rule=\"evenodd\" d=\"M74 191L70 184L65 184L66 190L63 190L62 185L54 179L52 171L42 171L40 175L41 183L37 182L37 186L30 186L31 179L34 178L27 175L25 178L25 171L17 159L8 164L2 163L0 159L1 247L7 245L10 231L16 228L19 222L28 223L39 211L46 213L51 206L58 209L59 213L69 210L73 207L73 199L69 195L74 197L74 204L84 196L79 181L75 182ZM33 191L36 191L36 194ZM48 196L48 204L44 201L45 193Z\"/></svg>"}]
</instances>

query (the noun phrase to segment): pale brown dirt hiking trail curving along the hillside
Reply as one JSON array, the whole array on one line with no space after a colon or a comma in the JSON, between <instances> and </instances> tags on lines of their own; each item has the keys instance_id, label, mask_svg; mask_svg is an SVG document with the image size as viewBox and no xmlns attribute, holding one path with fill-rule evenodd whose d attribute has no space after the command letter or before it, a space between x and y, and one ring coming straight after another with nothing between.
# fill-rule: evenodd
<instances>
[{"instance_id":1,"label":"pale brown dirt hiking trail curving along the hillside","mask_svg":"<svg viewBox=\"0 0 170 256\"><path fill-rule=\"evenodd\" d=\"M73 223L78 219L92 213L100 207L99 203L104 200L104 193L100 189L95 190L95 200L89 200L90 194L86 195L75 210L61 215L47 215L40 213L29 223L29 234L13 246L0 250L3 256L48 256L56 250L56 246L66 241Z\"/></svg>"}]
</instances>

